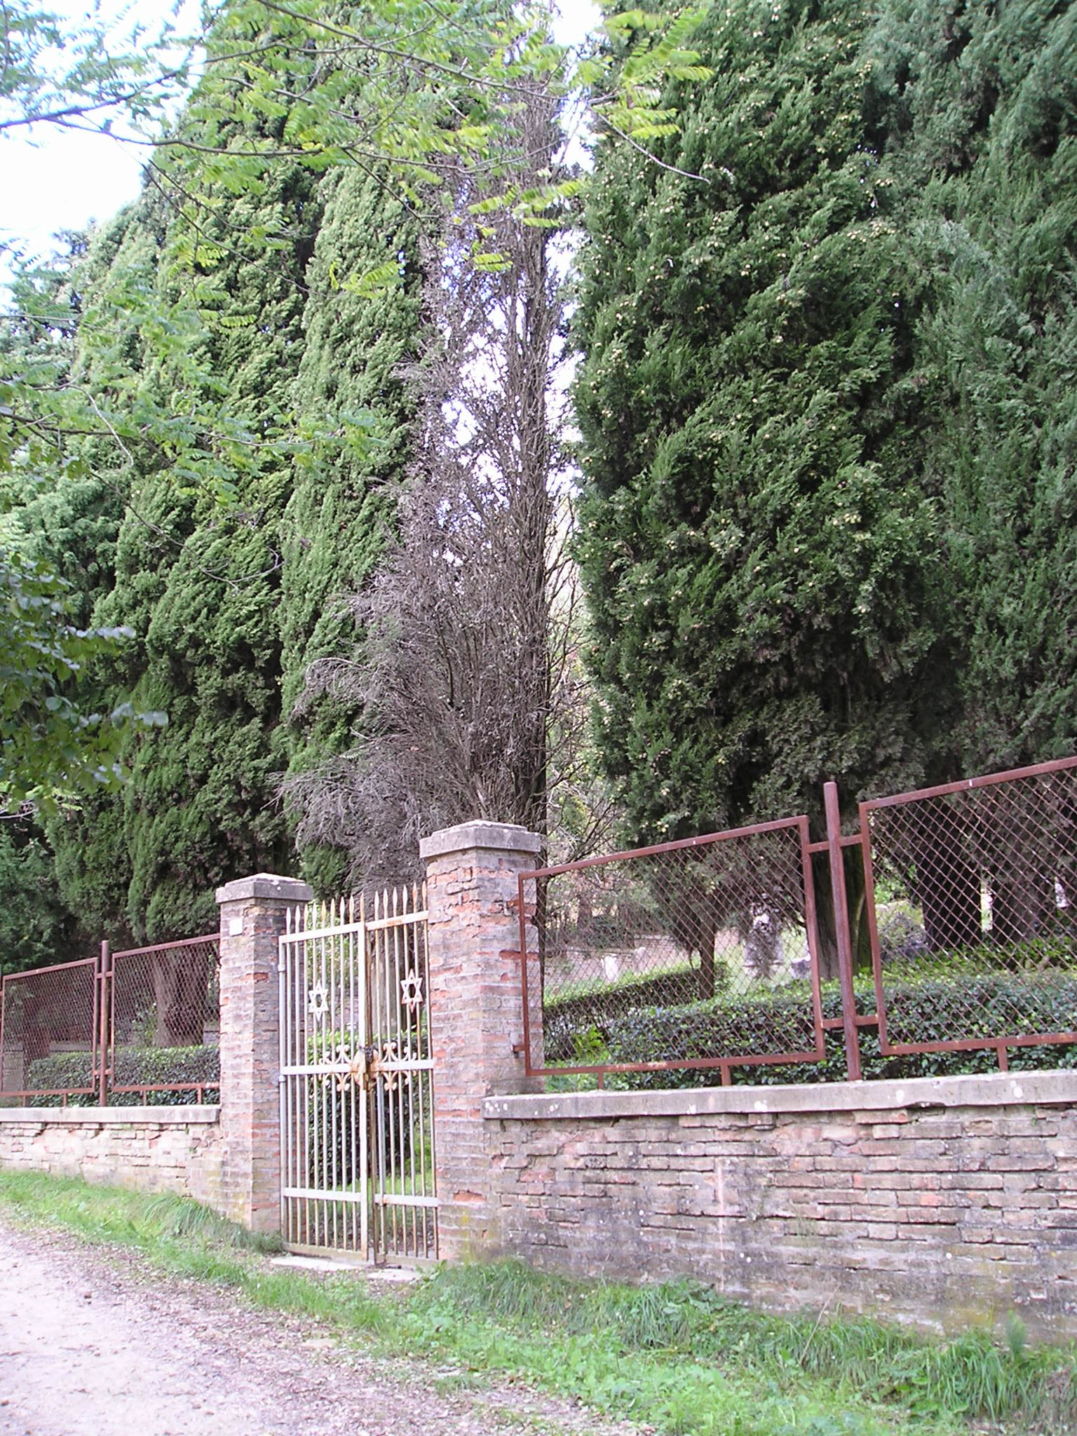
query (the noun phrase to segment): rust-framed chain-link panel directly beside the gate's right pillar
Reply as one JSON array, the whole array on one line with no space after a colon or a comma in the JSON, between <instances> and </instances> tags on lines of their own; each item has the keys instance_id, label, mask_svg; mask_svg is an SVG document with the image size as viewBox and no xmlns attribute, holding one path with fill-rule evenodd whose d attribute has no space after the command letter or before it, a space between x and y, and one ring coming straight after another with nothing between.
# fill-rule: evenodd
<instances>
[{"instance_id":1,"label":"rust-framed chain-link panel directly beside the gate's right pillar","mask_svg":"<svg viewBox=\"0 0 1077 1436\"><path fill-rule=\"evenodd\" d=\"M737 1066L813 1060L814 935L803 817L527 873L524 1001L534 1010L537 987L541 1064L717 1067L728 1081Z\"/></svg>"}]
</instances>

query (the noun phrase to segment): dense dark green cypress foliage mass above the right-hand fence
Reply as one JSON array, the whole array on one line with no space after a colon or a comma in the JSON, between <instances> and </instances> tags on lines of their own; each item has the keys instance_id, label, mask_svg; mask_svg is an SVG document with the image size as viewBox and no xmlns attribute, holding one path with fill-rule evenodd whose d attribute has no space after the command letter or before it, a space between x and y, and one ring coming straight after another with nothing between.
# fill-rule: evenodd
<instances>
[{"instance_id":1,"label":"dense dark green cypress foliage mass above the right-hand fence","mask_svg":"<svg viewBox=\"0 0 1077 1436\"><path fill-rule=\"evenodd\" d=\"M673 837L1073 750L1068 6L715 7L587 204L607 771Z\"/></svg>"}]
</instances>

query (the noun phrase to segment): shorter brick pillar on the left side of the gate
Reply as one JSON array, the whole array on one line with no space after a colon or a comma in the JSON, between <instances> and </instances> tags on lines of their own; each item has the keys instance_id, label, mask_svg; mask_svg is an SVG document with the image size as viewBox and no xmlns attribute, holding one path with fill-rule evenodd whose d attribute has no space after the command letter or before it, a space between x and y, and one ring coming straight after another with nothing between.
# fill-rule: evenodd
<instances>
[{"instance_id":1,"label":"shorter brick pillar on the left side of the gate","mask_svg":"<svg viewBox=\"0 0 1077 1436\"><path fill-rule=\"evenodd\" d=\"M312 898L306 883L271 873L217 889L224 1209L254 1232L280 1231L277 938L284 910Z\"/></svg>"}]
</instances>

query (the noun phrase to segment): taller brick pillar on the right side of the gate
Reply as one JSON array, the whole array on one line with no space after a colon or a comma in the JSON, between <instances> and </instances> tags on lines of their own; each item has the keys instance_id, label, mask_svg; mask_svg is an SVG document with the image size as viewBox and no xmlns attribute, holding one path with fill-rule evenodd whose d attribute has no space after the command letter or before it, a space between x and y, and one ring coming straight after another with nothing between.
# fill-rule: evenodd
<instances>
[{"instance_id":1,"label":"taller brick pillar on the right side of the gate","mask_svg":"<svg viewBox=\"0 0 1077 1436\"><path fill-rule=\"evenodd\" d=\"M540 1080L524 1077L520 1047L517 916L517 873L537 866L540 846L537 833L507 823L461 823L419 844L429 912L438 1248L449 1261L494 1255L500 1246L482 1099L540 1090ZM541 1051L541 1031L533 1035Z\"/></svg>"}]
</instances>

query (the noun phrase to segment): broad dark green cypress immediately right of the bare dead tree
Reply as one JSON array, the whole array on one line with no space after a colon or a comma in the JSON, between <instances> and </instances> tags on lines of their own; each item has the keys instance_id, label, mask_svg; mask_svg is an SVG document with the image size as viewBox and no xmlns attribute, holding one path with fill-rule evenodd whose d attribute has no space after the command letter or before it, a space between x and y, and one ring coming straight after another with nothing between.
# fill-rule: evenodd
<instances>
[{"instance_id":1,"label":"broad dark green cypress immediately right of the bare dead tree","mask_svg":"<svg viewBox=\"0 0 1077 1436\"><path fill-rule=\"evenodd\" d=\"M597 734L632 836L938 765L922 279L864 144L852 0L715 7L655 164L605 139L576 388ZM938 488L938 485L936 485Z\"/></svg>"}]
</instances>

